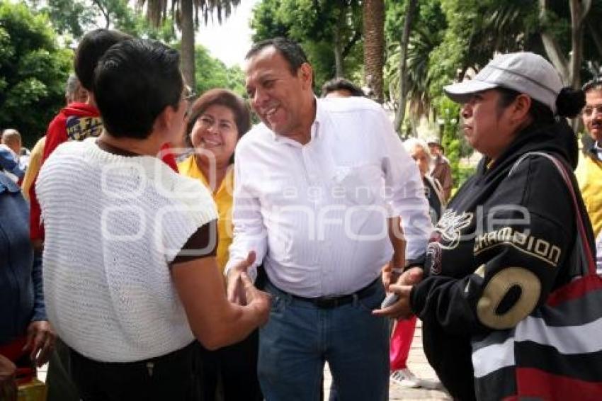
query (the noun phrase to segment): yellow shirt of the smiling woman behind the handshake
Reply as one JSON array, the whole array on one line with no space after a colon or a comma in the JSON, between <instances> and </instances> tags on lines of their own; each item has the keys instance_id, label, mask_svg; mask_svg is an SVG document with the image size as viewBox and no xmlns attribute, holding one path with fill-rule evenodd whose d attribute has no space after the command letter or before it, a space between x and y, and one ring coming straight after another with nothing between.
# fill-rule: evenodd
<instances>
[{"instance_id":1,"label":"yellow shirt of the smiling woman behind the handshake","mask_svg":"<svg viewBox=\"0 0 602 401\"><path fill-rule=\"evenodd\" d=\"M196 165L194 155L187 157L183 162L178 163L180 174L189 176L193 179L199 179L209 191L209 183ZM217 205L217 214L220 216L217 220L217 235L220 239L217 243L217 266L220 266L222 272L228 261L228 248L232 244L232 193L234 192L234 169L229 169L224 177L220 188L212 192L213 200Z\"/></svg>"}]
</instances>

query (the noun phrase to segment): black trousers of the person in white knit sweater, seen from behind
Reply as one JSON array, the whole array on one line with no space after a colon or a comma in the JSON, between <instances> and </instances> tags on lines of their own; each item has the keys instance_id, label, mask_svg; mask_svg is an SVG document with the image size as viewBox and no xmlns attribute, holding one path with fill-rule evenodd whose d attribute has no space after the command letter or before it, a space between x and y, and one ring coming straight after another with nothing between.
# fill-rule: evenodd
<instances>
[{"instance_id":1,"label":"black trousers of the person in white knit sweater, seen from behind","mask_svg":"<svg viewBox=\"0 0 602 401\"><path fill-rule=\"evenodd\" d=\"M199 400L198 346L127 363L93 361L70 349L73 380L84 401Z\"/></svg>"}]
</instances>

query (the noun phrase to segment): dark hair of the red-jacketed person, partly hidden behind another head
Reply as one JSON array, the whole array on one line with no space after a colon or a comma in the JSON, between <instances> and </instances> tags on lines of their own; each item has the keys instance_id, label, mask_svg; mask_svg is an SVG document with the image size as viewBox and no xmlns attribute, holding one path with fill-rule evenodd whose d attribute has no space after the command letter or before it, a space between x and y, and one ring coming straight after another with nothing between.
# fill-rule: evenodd
<instances>
[{"instance_id":1,"label":"dark hair of the red-jacketed person, partly hidden behind another head","mask_svg":"<svg viewBox=\"0 0 602 401\"><path fill-rule=\"evenodd\" d=\"M91 30L86 33L77 46L73 60L73 68L81 86L93 91L94 69L98 64L98 60L115 43L131 38L127 33L105 28Z\"/></svg>"}]
</instances>

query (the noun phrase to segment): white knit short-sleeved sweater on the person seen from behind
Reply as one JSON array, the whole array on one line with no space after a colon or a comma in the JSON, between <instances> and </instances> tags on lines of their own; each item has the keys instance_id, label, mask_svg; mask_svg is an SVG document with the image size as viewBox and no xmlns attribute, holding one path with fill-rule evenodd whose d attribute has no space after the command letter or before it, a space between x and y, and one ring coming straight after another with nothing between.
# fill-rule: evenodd
<instances>
[{"instance_id":1,"label":"white knit short-sleeved sweater on the person seen from behind","mask_svg":"<svg viewBox=\"0 0 602 401\"><path fill-rule=\"evenodd\" d=\"M110 154L95 141L58 147L36 183L48 317L97 361L168 354L194 339L168 264L217 218L215 203L161 160Z\"/></svg>"}]
</instances>

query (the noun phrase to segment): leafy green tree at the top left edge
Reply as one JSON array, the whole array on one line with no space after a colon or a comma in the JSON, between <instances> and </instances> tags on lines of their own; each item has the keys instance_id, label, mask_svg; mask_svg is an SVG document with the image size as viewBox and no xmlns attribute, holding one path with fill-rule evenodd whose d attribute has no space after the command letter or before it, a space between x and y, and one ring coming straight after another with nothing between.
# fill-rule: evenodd
<instances>
[{"instance_id":1,"label":"leafy green tree at the top left edge","mask_svg":"<svg viewBox=\"0 0 602 401\"><path fill-rule=\"evenodd\" d=\"M33 145L64 105L71 62L46 16L0 3L0 127L16 128Z\"/></svg>"}]
</instances>

